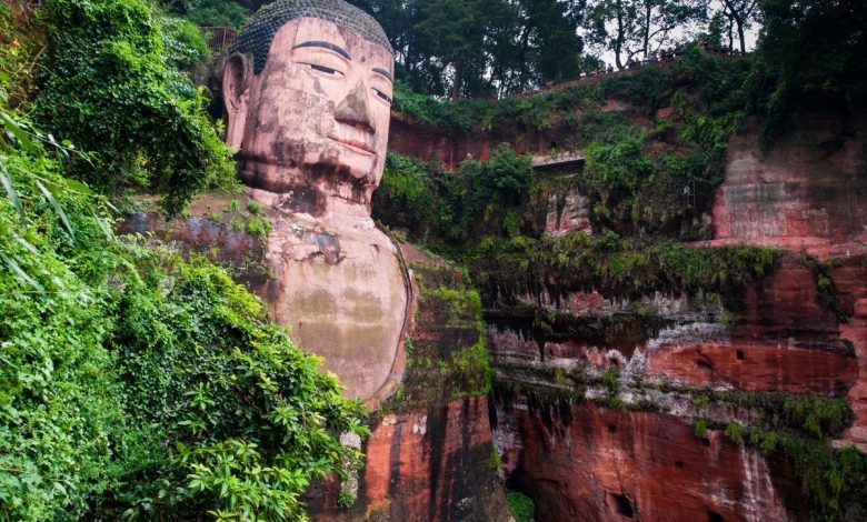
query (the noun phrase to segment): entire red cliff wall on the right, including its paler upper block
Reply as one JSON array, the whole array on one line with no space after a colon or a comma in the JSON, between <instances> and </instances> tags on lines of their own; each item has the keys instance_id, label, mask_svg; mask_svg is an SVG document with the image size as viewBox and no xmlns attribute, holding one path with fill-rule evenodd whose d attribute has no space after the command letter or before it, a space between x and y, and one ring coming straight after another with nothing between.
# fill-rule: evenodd
<instances>
[{"instance_id":1,"label":"entire red cliff wall on the right, including its paler upper block","mask_svg":"<svg viewBox=\"0 0 867 522\"><path fill-rule=\"evenodd\" d=\"M795 403L824 404L807 418L851 406L827 434L867 449L861 128L845 112L807 112L767 153L753 131L731 139L708 220L716 239L696 245L785 251L745 288L629 300L542 273L542 290L486 311L504 476L540 520L815 513L811 471L757 433L814 440L809 421L775 415ZM837 515L861 516L863 499L849 501Z\"/></svg>"}]
</instances>

